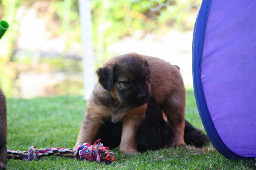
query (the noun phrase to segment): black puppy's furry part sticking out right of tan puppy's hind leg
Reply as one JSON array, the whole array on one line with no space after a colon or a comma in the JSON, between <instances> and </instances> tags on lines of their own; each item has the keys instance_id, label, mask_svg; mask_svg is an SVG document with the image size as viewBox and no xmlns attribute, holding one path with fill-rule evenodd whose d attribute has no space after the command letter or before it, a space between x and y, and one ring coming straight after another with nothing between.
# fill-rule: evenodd
<instances>
[{"instance_id":1,"label":"black puppy's furry part sticking out right of tan puppy's hind leg","mask_svg":"<svg viewBox=\"0 0 256 170\"><path fill-rule=\"evenodd\" d=\"M196 129L187 120L185 120L184 140L186 144L196 147L202 147L209 142L208 136Z\"/></svg>"}]
</instances>

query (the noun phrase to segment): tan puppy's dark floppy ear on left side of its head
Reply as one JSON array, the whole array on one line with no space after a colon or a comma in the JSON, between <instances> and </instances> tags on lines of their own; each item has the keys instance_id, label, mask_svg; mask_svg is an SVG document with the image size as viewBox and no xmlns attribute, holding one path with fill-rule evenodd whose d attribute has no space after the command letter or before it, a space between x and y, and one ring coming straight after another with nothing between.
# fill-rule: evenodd
<instances>
[{"instance_id":1,"label":"tan puppy's dark floppy ear on left side of its head","mask_svg":"<svg viewBox=\"0 0 256 170\"><path fill-rule=\"evenodd\" d=\"M107 91L111 91L113 88L115 71L116 65L113 64L100 67L96 70L100 85Z\"/></svg>"}]
</instances>

